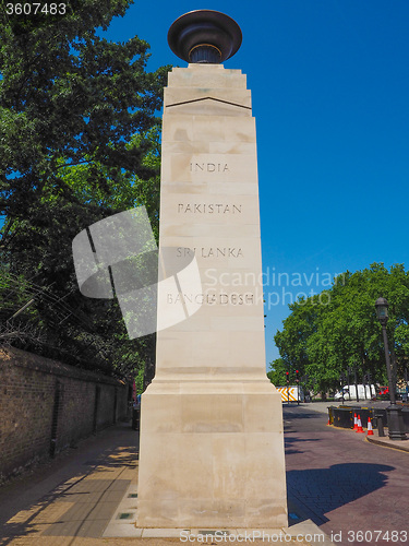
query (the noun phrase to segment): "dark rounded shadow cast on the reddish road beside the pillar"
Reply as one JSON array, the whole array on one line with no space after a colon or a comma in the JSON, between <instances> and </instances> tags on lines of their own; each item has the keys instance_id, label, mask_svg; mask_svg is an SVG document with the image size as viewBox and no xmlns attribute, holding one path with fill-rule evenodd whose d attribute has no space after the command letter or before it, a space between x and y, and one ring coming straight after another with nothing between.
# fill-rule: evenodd
<instances>
[{"instance_id":1,"label":"dark rounded shadow cast on the reddish road beside the pillar","mask_svg":"<svg viewBox=\"0 0 409 546\"><path fill-rule=\"evenodd\" d=\"M345 463L328 468L289 471L288 497L301 509L304 519L321 525L328 521L325 513L386 485L384 473L394 470L385 464Z\"/></svg>"}]
</instances>

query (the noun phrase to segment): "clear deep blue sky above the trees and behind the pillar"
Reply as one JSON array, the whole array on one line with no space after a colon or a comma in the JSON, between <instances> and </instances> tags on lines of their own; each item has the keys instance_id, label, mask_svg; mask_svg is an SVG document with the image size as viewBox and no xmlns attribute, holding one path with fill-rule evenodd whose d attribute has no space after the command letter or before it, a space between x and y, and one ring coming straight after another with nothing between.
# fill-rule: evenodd
<instances>
[{"instance_id":1,"label":"clear deep blue sky above the trees and behind the pillar","mask_svg":"<svg viewBox=\"0 0 409 546\"><path fill-rule=\"evenodd\" d=\"M243 33L225 67L248 75L256 118L268 367L297 293L409 261L409 2L136 1L107 36L148 41L152 70L185 66L167 32L196 9L227 13Z\"/></svg>"}]
</instances>

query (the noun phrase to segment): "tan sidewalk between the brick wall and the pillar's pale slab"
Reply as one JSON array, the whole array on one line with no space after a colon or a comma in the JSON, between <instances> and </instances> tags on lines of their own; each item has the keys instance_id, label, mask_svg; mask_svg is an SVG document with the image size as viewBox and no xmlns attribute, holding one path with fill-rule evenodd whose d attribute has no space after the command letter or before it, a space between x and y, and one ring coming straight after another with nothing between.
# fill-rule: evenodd
<instances>
[{"instance_id":1,"label":"tan sidewalk between the brick wall and the pillar's pale slab","mask_svg":"<svg viewBox=\"0 0 409 546\"><path fill-rule=\"evenodd\" d=\"M0 544L100 544L136 463L137 434L120 424L13 480L0 489Z\"/></svg>"}]
</instances>

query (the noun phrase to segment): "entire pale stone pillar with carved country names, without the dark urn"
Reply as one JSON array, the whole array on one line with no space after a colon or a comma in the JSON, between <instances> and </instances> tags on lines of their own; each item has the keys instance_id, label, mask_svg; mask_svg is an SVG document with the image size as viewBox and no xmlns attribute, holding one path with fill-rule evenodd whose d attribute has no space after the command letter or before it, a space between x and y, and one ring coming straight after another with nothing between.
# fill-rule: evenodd
<instances>
[{"instance_id":1,"label":"entire pale stone pillar with carved country names, without the dark urn","mask_svg":"<svg viewBox=\"0 0 409 546\"><path fill-rule=\"evenodd\" d=\"M265 373L255 142L240 70L172 70L158 285L158 324L169 328L142 396L140 527L287 525L281 399Z\"/></svg>"}]
</instances>

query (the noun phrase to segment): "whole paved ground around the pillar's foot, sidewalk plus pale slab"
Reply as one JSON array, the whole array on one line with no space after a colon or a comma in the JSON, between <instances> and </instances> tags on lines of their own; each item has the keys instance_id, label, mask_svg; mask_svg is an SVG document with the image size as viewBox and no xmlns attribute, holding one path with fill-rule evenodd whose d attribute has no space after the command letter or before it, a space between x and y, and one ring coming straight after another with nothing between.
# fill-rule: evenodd
<instances>
[{"instance_id":1,"label":"whole paved ground around the pillar's foot, sidewalk plus pale slab","mask_svg":"<svg viewBox=\"0 0 409 546\"><path fill-rule=\"evenodd\" d=\"M0 489L0 545L129 546L143 542L160 546L180 543L181 530L135 529L136 490L137 434L130 424L119 424ZM313 539L303 541L300 536L316 534L318 544L330 545L299 507L290 505L289 512L292 525L286 530L266 529L265 536L282 533L287 537L291 535L290 542L311 546L315 544ZM226 531L226 536L230 533L226 542L241 542L232 541L231 535L242 536L245 531ZM191 530L192 535L199 532ZM208 535L207 544L220 542L212 537L212 530L202 533ZM257 536L251 542L262 544Z\"/></svg>"}]
</instances>

